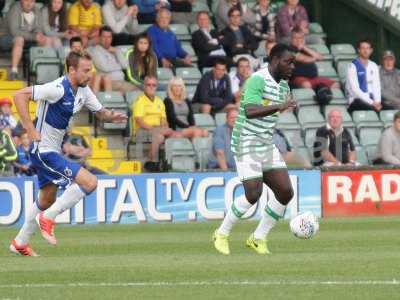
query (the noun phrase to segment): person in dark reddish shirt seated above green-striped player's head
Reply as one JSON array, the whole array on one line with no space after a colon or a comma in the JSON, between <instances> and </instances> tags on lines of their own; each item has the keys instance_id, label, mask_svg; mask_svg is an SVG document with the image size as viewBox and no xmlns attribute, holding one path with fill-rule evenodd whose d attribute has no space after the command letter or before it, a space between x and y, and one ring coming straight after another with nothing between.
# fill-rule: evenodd
<instances>
[{"instance_id":1,"label":"person in dark reddish shirt seated above green-striped player's head","mask_svg":"<svg viewBox=\"0 0 400 300\"><path fill-rule=\"evenodd\" d=\"M279 10L277 16L278 41L289 44L292 30L297 27L306 35L307 44L320 44L319 37L308 35L310 33L308 26L308 14L304 6L299 4L299 0L287 0L286 5Z\"/></svg>"}]
</instances>

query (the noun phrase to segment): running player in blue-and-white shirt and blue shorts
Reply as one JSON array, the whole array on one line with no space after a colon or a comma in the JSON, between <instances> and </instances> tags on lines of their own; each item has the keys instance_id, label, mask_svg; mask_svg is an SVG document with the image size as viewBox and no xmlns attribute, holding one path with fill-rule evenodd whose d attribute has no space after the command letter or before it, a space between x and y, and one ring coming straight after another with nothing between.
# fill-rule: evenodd
<instances>
[{"instance_id":1,"label":"running player in blue-and-white shirt and blue shorts","mask_svg":"<svg viewBox=\"0 0 400 300\"><path fill-rule=\"evenodd\" d=\"M55 245L54 219L73 207L97 187L96 176L61 154L64 136L71 120L83 106L108 122L126 122L127 116L105 109L87 86L92 74L92 61L87 53L71 52L66 60L67 74L43 85L18 91L14 96L23 127L32 139L31 159L37 171L39 196L32 207L27 207L25 223L11 242L10 251L23 256L37 256L29 246L36 230L36 219L42 236ZM37 122L29 116L30 100L38 103ZM65 191L56 201L59 187Z\"/></svg>"}]
</instances>

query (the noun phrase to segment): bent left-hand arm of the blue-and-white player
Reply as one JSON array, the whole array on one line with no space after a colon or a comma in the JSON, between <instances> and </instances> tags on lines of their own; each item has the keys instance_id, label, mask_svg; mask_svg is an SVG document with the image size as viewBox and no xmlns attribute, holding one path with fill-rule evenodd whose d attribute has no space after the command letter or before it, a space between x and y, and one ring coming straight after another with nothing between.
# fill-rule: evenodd
<instances>
[{"instance_id":1,"label":"bent left-hand arm of the blue-and-white player","mask_svg":"<svg viewBox=\"0 0 400 300\"><path fill-rule=\"evenodd\" d=\"M40 133L36 130L29 115L29 101L32 99L32 87L26 87L17 91L14 95L14 103L17 108L22 126L26 129L32 141L40 141Z\"/></svg>"}]
</instances>

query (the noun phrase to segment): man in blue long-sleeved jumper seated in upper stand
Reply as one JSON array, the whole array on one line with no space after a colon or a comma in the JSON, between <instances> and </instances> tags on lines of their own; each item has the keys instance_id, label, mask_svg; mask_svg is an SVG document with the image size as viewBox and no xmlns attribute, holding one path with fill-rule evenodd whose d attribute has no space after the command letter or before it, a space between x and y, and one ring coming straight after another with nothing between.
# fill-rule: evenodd
<instances>
[{"instance_id":1,"label":"man in blue long-sleeved jumper seated in upper stand","mask_svg":"<svg viewBox=\"0 0 400 300\"><path fill-rule=\"evenodd\" d=\"M162 8L157 13L156 24L147 31L158 63L164 68L191 66L192 58L183 50L175 33L169 29L170 23L171 12Z\"/></svg>"}]
</instances>

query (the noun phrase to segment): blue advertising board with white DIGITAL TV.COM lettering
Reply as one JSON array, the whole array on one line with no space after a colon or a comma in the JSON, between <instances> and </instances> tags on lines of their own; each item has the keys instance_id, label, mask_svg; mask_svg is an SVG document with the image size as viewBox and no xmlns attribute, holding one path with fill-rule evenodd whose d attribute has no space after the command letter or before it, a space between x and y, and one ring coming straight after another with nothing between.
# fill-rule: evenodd
<instances>
[{"instance_id":1,"label":"blue advertising board with white DIGITAL TV.COM lettering","mask_svg":"<svg viewBox=\"0 0 400 300\"><path fill-rule=\"evenodd\" d=\"M285 217L311 210L321 215L321 174L318 170L290 171L294 201ZM220 220L232 199L244 197L236 173L164 173L134 176L99 176L98 188L71 211L58 216L67 224L188 222ZM0 225L22 225L26 207L37 195L35 177L0 179ZM246 218L259 218L262 200Z\"/></svg>"}]
</instances>

